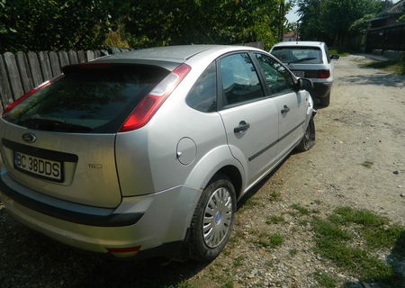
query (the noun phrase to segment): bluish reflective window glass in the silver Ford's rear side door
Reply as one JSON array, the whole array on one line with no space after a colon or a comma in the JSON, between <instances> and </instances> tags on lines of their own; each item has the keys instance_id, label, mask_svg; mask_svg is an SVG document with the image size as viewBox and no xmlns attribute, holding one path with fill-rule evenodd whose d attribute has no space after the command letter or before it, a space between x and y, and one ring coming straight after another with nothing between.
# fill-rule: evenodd
<instances>
[{"instance_id":1,"label":"bluish reflective window glass in the silver Ford's rear side door","mask_svg":"<svg viewBox=\"0 0 405 288\"><path fill-rule=\"evenodd\" d=\"M224 108L265 97L257 71L247 53L220 58Z\"/></svg>"}]
</instances>

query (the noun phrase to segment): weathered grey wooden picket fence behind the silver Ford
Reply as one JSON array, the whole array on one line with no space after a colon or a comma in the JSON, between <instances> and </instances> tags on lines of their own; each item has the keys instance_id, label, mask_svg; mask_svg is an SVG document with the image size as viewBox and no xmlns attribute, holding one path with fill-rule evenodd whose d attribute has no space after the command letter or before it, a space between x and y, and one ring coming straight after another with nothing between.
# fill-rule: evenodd
<instances>
[{"instance_id":1,"label":"weathered grey wooden picket fence behind the silver Ford","mask_svg":"<svg viewBox=\"0 0 405 288\"><path fill-rule=\"evenodd\" d=\"M0 112L32 88L61 74L61 67L130 49L5 52L0 55Z\"/></svg>"}]
</instances>

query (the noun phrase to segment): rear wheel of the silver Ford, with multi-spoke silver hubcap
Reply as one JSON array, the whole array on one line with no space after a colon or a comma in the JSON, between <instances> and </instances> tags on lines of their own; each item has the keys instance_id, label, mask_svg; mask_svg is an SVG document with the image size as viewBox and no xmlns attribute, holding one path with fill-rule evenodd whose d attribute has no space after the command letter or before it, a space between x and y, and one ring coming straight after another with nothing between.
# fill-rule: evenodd
<instances>
[{"instance_id":1,"label":"rear wheel of the silver Ford, with multi-spoke silver hubcap","mask_svg":"<svg viewBox=\"0 0 405 288\"><path fill-rule=\"evenodd\" d=\"M205 262L220 254L228 242L235 211L233 184L226 175L214 176L193 214L189 238L191 258Z\"/></svg>"}]
</instances>

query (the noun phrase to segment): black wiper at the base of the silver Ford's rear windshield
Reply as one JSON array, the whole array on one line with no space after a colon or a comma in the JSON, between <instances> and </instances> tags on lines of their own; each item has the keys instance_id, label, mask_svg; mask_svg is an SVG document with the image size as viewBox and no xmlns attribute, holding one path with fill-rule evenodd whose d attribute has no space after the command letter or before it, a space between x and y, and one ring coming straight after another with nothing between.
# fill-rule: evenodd
<instances>
[{"instance_id":1,"label":"black wiper at the base of the silver Ford's rear windshield","mask_svg":"<svg viewBox=\"0 0 405 288\"><path fill-rule=\"evenodd\" d=\"M45 118L41 116L31 117L23 121L19 121L25 127L39 130L63 130L63 131L89 131L93 130L91 127L68 123L65 120L58 120L56 118Z\"/></svg>"}]
</instances>

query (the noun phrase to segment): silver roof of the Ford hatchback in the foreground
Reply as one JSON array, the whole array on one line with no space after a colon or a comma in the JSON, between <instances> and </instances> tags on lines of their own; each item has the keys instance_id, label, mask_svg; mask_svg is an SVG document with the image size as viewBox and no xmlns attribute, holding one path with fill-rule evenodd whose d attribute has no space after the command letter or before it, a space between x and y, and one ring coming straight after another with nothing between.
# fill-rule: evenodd
<instances>
[{"instance_id":1,"label":"silver roof of the Ford hatchback in the foreground","mask_svg":"<svg viewBox=\"0 0 405 288\"><path fill-rule=\"evenodd\" d=\"M115 63L134 63L149 64L165 67L173 70L180 63L184 63L193 56L206 52L218 53L220 50L257 50L247 46L229 46L229 45L178 45L165 46L147 49L136 49L120 54L113 54L102 58L97 58L94 62L115 62Z\"/></svg>"}]
</instances>

